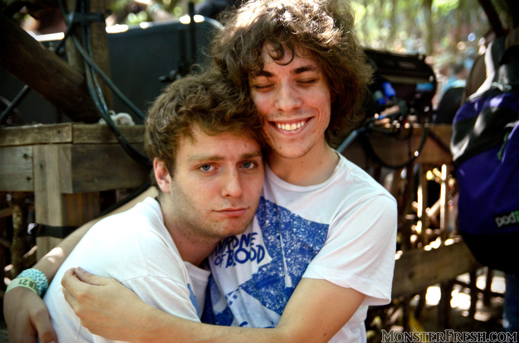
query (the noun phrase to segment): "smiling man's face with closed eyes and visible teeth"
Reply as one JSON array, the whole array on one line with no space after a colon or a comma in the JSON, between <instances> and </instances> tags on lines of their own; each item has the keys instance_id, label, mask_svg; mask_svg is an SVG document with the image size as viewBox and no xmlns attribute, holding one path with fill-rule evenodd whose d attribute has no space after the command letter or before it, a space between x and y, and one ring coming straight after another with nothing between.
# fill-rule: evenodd
<instances>
[{"instance_id":1,"label":"smiling man's face with closed eyes and visible teeth","mask_svg":"<svg viewBox=\"0 0 519 343\"><path fill-rule=\"evenodd\" d=\"M332 94L319 63L305 49L296 51L289 64L290 53L274 61L268 45L263 49L263 61L263 69L249 77L249 86L273 152L294 159L325 148Z\"/></svg>"}]
</instances>

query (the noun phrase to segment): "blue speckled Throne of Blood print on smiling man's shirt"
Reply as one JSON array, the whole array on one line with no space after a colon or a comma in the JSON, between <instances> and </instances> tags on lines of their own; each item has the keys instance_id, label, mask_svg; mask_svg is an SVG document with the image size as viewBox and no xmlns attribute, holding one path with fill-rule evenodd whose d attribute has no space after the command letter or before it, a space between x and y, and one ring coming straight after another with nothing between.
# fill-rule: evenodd
<instances>
[{"instance_id":1,"label":"blue speckled Throne of Blood print on smiling man's shirt","mask_svg":"<svg viewBox=\"0 0 519 343\"><path fill-rule=\"evenodd\" d=\"M276 326L308 264L321 250L329 227L308 221L263 197L256 219L263 242L255 236L257 232L228 237L218 245L211 258L214 270L221 278L244 263L257 263L257 272L253 272L238 289L225 295L221 294L211 276L202 319L204 322ZM261 264L266 255L272 260ZM227 304L225 308L221 304L222 297L225 297Z\"/></svg>"}]
</instances>

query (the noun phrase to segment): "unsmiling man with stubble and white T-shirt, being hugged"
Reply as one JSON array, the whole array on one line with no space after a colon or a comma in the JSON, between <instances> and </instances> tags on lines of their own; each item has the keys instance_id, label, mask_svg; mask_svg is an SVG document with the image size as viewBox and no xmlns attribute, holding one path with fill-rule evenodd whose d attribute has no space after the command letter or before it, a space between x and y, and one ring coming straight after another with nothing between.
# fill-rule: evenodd
<instances>
[{"instance_id":1,"label":"unsmiling man with stubble and white T-shirt, being hugged","mask_svg":"<svg viewBox=\"0 0 519 343\"><path fill-rule=\"evenodd\" d=\"M63 296L61 278L78 265L199 321L209 276L199 266L218 241L247 228L264 180L262 121L224 80L216 72L186 76L149 109L145 148L158 196L95 224L58 270L44 301L59 341L106 341Z\"/></svg>"}]
</instances>

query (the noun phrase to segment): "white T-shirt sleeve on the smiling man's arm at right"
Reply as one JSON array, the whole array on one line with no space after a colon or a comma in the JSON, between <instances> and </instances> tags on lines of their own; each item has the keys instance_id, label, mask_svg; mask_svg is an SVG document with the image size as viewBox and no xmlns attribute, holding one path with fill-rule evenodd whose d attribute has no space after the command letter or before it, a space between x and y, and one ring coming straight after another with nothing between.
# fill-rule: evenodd
<instances>
[{"instance_id":1,"label":"white T-shirt sleeve on the smiling man's arm at right","mask_svg":"<svg viewBox=\"0 0 519 343\"><path fill-rule=\"evenodd\" d=\"M377 195L340 213L303 278L324 279L366 295L363 305L391 300L397 204Z\"/></svg>"}]
</instances>

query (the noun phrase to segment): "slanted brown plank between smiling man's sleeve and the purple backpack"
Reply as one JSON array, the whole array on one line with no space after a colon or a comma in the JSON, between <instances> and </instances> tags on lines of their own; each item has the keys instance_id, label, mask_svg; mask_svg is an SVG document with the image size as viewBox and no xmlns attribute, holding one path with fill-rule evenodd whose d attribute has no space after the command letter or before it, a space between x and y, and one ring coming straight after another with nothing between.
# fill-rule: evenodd
<instances>
[{"instance_id":1,"label":"slanted brown plank between smiling man's sleeve and the purple backpack","mask_svg":"<svg viewBox=\"0 0 519 343\"><path fill-rule=\"evenodd\" d=\"M395 261L392 297L416 294L479 267L463 241L431 250L406 250Z\"/></svg>"}]
</instances>

